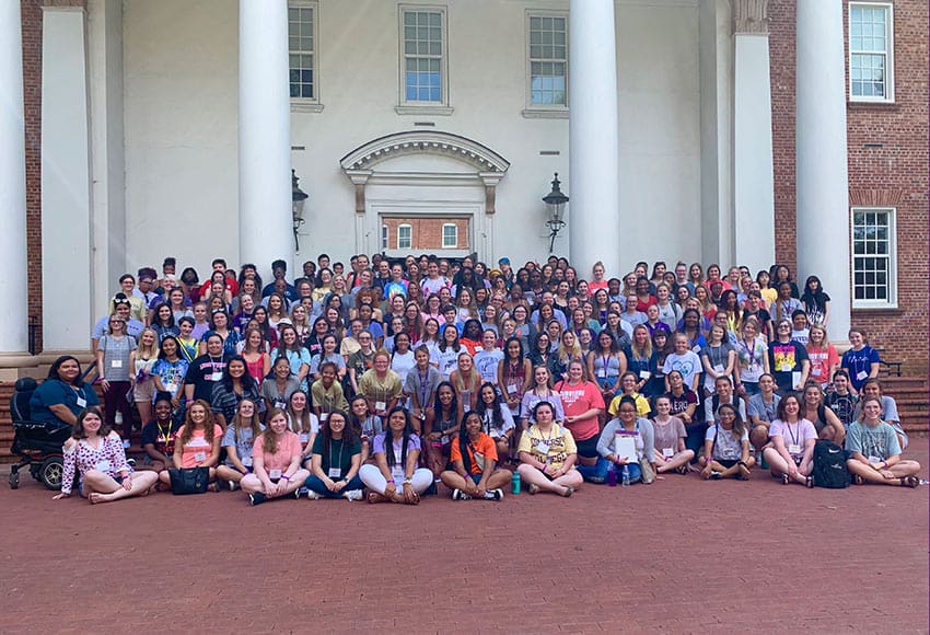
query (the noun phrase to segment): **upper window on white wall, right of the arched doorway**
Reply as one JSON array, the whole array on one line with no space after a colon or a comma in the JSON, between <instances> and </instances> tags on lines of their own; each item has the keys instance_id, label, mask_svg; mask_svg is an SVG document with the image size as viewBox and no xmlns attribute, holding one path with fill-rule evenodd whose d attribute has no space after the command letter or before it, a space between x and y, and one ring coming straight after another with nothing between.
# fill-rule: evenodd
<instances>
[{"instance_id":1,"label":"upper window on white wall, right of the arched doorway","mask_svg":"<svg viewBox=\"0 0 930 635\"><path fill-rule=\"evenodd\" d=\"M530 14L530 106L563 108L568 105L568 19Z\"/></svg>"}]
</instances>

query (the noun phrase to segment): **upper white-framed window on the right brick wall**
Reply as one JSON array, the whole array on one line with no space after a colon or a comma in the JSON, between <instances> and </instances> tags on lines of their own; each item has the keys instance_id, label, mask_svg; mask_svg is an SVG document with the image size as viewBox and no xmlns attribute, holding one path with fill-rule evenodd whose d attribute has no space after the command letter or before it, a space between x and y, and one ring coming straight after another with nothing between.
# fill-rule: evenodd
<instances>
[{"instance_id":1,"label":"upper white-framed window on the right brick wall","mask_svg":"<svg viewBox=\"0 0 930 635\"><path fill-rule=\"evenodd\" d=\"M892 4L849 4L849 96L853 101L894 100Z\"/></svg>"}]
</instances>

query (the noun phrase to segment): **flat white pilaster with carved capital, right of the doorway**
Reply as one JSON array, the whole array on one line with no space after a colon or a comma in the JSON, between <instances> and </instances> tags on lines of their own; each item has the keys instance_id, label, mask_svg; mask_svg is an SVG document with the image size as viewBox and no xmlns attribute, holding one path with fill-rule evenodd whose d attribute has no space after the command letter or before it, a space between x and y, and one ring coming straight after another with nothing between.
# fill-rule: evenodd
<instances>
[{"instance_id":1,"label":"flat white pilaster with carved capital, right of the doorway","mask_svg":"<svg viewBox=\"0 0 930 635\"><path fill-rule=\"evenodd\" d=\"M775 254L768 0L735 0L733 83L733 261L768 268Z\"/></svg>"}]
</instances>

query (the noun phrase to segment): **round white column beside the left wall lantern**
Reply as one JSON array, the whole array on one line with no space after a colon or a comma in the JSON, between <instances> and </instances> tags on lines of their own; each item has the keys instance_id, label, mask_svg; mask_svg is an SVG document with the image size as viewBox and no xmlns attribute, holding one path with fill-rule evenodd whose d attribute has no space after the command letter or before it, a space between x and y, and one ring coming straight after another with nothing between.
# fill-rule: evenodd
<instances>
[{"instance_id":1,"label":"round white column beside the left wall lantern","mask_svg":"<svg viewBox=\"0 0 930 635\"><path fill-rule=\"evenodd\" d=\"M239 245L266 279L294 270L287 0L239 2Z\"/></svg>"}]
</instances>

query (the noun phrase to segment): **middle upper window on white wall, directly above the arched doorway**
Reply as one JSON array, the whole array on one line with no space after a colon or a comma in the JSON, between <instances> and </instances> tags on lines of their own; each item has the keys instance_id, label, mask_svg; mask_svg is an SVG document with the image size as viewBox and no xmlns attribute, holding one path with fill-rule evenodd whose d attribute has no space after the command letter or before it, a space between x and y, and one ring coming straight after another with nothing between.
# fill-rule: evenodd
<instances>
[{"instance_id":1,"label":"middle upper window on white wall, directly above the arched doorway","mask_svg":"<svg viewBox=\"0 0 930 635\"><path fill-rule=\"evenodd\" d=\"M447 104L445 10L400 9L402 103Z\"/></svg>"}]
</instances>

